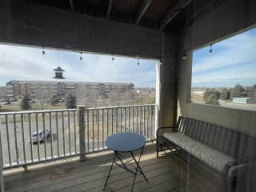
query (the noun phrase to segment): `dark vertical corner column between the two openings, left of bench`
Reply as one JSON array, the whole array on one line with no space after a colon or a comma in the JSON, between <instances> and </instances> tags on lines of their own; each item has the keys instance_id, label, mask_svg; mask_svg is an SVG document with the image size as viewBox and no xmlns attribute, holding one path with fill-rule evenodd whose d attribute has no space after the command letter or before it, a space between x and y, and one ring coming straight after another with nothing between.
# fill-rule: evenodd
<instances>
[{"instance_id":1,"label":"dark vertical corner column between the two openings, left of bench","mask_svg":"<svg viewBox=\"0 0 256 192\"><path fill-rule=\"evenodd\" d=\"M159 125L172 126L176 116L177 97L177 47L178 38L162 33L160 64L160 113Z\"/></svg>"}]
</instances>

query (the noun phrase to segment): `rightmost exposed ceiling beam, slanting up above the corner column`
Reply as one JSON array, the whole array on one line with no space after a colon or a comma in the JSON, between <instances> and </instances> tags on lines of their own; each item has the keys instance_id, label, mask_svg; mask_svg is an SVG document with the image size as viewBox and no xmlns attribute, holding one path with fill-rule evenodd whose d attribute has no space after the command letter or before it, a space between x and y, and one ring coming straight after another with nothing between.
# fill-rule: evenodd
<instances>
[{"instance_id":1,"label":"rightmost exposed ceiling beam, slanting up above the corner column","mask_svg":"<svg viewBox=\"0 0 256 192\"><path fill-rule=\"evenodd\" d=\"M192 2L192 0L178 0L178 2L174 4L174 7L172 7L168 11L168 13L166 14L166 18L162 20L160 30L163 30L167 26L167 24L171 20L173 20L177 16L177 14L179 14L179 12L181 12L183 8L190 4L190 2Z\"/></svg>"}]
</instances>

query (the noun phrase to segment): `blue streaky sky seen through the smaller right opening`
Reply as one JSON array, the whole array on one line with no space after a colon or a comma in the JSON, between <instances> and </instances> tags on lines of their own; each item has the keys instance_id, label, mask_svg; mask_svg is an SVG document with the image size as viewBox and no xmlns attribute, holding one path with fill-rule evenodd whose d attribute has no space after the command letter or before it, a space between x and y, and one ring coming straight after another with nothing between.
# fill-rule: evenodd
<instances>
[{"instance_id":1,"label":"blue streaky sky seen through the smaller right opening","mask_svg":"<svg viewBox=\"0 0 256 192\"><path fill-rule=\"evenodd\" d=\"M193 52L193 87L256 84L256 28Z\"/></svg>"}]
</instances>

